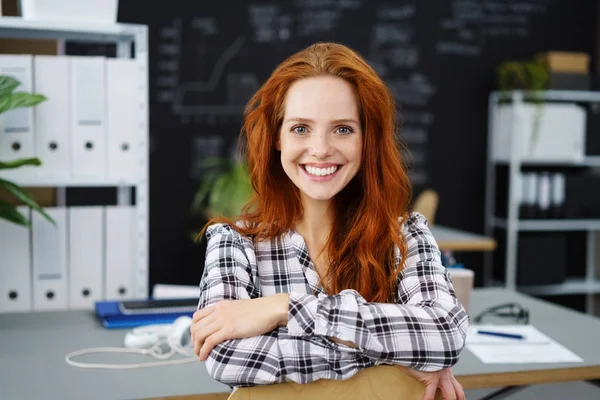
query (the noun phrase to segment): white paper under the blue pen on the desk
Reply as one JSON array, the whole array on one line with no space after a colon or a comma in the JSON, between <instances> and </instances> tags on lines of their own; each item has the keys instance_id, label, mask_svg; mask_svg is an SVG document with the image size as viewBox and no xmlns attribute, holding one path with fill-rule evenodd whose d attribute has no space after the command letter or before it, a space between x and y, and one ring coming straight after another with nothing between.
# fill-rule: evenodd
<instances>
[{"instance_id":1,"label":"white paper under the blue pen on the desk","mask_svg":"<svg viewBox=\"0 0 600 400\"><path fill-rule=\"evenodd\" d=\"M523 335L524 339L475 333L476 329ZM466 347L486 364L583 362L579 356L532 325L473 325Z\"/></svg>"}]
</instances>

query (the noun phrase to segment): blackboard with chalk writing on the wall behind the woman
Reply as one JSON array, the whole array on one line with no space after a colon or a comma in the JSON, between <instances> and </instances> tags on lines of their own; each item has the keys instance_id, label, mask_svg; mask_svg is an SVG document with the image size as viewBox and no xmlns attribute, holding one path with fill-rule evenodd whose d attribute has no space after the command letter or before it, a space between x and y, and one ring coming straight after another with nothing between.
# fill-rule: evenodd
<instances>
[{"instance_id":1,"label":"blackboard with chalk writing on the wall behind the woman","mask_svg":"<svg viewBox=\"0 0 600 400\"><path fill-rule=\"evenodd\" d=\"M438 223L482 232L494 68L596 44L594 1L121 0L118 18L150 32L151 285L197 284L198 161L235 151L246 101L288 55L317 41L363 55L398 100L415 195L435 189Z\"/></svg>"}]
</instances>

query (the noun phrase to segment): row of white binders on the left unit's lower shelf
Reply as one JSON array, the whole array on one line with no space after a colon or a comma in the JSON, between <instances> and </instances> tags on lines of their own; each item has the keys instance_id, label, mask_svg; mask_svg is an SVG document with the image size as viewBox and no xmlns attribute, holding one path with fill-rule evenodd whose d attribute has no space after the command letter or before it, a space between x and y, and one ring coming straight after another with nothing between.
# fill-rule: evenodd
<instances>
[{"instance_id":1,"label":"row of white binders on the left unit's lower shelf","mask_svg":"<svg viewBox=\"0 0 600 400\"><path fill-rule=\"evenodd\" d=\"M53 225L25 206L31 229L0 219L0 313L93 310L131 299L133 206L49 207Z\"/></svg>"}]
</instances>

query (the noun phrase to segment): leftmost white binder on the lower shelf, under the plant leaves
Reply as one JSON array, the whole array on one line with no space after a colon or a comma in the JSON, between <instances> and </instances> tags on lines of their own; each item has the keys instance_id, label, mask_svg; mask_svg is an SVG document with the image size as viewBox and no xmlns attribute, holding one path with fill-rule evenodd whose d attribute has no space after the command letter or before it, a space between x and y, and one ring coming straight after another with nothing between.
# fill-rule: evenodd
<instances>
[{"instance_id":1,"label":"leftmost white binder on the lower shelf, under the plant leaves","mask_svg":"<svg viewBox=\"0 0 600 400\"><path fill-rule=\"evenodd\" d=\"M17 207L29 219L29 208ZM0 313L31 311L29 229L0 219Z\"/></svg>"}]
</instances>

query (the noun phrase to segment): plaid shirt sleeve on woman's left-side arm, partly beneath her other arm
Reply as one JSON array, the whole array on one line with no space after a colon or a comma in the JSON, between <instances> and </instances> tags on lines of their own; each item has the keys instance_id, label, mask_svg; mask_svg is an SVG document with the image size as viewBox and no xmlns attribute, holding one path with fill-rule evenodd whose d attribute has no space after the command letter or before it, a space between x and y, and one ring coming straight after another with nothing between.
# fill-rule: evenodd
<instances>
[{"instance_id":1,"label":"plaid shirt sleeve on woman's left-side arm, partly beneath her other arm","mask_svg":"<svg viewBox=\"0 0 600 400\"><path fill-rule=\"evenodd\" d=\"M220 300L260 296L253 252L241 235L225 224L207 231L206 262L198 309ZM248 251L247 251L248 250ZM206 360L209 375L230 386L254 386L316 379L347 379L374 362L355 349L323 337L295 337L285 327L264 335L226 340Z\"/></svg>"}]
</instances>

